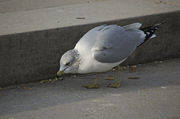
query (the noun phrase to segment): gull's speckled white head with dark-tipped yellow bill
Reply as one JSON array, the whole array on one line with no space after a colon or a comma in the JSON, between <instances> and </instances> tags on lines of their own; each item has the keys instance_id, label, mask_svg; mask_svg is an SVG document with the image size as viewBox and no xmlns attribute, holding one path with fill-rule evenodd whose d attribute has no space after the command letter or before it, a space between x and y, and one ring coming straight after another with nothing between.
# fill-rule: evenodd
<instances>
[{"instance_id":1,"label":"gull's speckled white head with dark-tipped yellow bill","mask_svg":"<svg viewBox=\"0 0 180 119\"><path fill-rule=\"evenodd\" d=\"M57 76L61 76L63 73L76 73L79 66L78 56L77 51L74 49L65 52L60 59Z\"/></svg>"}]
</instances>

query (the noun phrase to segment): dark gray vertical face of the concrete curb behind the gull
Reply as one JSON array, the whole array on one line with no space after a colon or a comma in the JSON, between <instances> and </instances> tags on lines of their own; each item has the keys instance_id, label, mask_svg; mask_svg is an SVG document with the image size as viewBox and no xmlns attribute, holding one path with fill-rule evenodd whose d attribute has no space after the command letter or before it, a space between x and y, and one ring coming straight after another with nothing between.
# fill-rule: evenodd
<instances>
[{"instance_id":1,"label":"dark gray vertical face of the concrete curb behind the gull","mask_svg":"<svg viewBox=\"0 0 180 119\"><path fill-rule=\"evenodd\" d=\"M72 49L91 28L101 24L144 26L166 20L157 37L138 48L123 64L139 64L180 57L180 11L119 19L72 27L0 36L0 86L27 83L55 76L61 55Z\"/></svg>"}]
</instances>

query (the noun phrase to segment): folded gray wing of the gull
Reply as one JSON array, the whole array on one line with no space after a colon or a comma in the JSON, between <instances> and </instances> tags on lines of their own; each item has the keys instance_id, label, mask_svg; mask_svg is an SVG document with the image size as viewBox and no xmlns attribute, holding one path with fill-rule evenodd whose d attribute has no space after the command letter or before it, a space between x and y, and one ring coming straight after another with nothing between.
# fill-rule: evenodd
<instances>
[{"instance_id":1,"label":"folded gray wing of the gull","mask_svg":"<svg viewBox=\"0 0 180 119\"><path fill-rule=\"evenodd\" d=\"M144 33L138 29L125 29L117 25L106 26L97 35L92 53L99 62L119 62L127 58L144 38Z\"/></svg>"}]
</instances>

